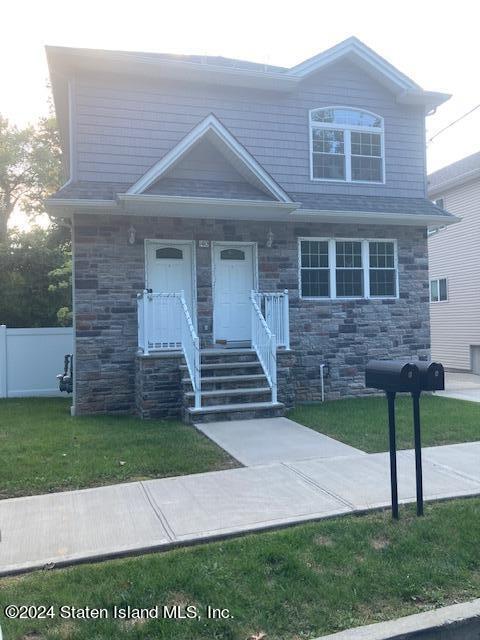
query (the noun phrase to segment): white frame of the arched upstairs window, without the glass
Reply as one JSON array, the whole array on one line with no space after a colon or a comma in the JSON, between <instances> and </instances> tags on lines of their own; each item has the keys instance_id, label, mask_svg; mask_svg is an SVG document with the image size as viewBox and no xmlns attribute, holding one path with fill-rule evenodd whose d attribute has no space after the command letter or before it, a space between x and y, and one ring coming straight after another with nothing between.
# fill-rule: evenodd
<instances>
[{"instance_id":1,"label":"white frame of the arched upstairs window, without the glass","mask_svg":"<svg viewBox=\"0 0 480 640\"><path fill-rule=\"evenodd\" d=\"M351 124L336 124L335 122L317 122L312 120L312 114L316 111L327 109L347 109L349 111L358 111L368 113L369 115L380 118L382 123L381 127L366 127L366 126L354 126ZM345 156L345 180L340 178L315 178L313 176L313 129L330 129L336 131L343 131L343 153ZM368 109L359 109L357 107L346 107L342 105L335 105L329 107L315 107L308 112L308 130L309 130L309 146L310 146L310 180L312 182L339 182L339 183L354 183L354 184L385 184L385 121L382 116ZM351 146L351 133L356 131L358 133L377 133L380 135L380 145L382 153L382 180L352 180L352 146ZM375 158L377 156L358 156Z\"/></svg>"}]
</instances>

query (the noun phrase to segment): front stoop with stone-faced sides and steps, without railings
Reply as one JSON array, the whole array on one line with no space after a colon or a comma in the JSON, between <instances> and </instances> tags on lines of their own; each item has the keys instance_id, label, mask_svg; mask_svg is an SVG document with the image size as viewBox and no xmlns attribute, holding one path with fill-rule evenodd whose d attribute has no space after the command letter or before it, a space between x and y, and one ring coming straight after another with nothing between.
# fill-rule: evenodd
<instances>
[{"instance_id":1,"label":"front stoop with stone-faced sides and steps, without railings","mask_svg":"<svg viewBox=\"0 0 480 640\"><path fill-rule=\"evenodd\" d=\"M144 419L183 418L188 423L276 418L295 400L294 354L277 352L278 402L253 349L203 349L202 407L194 408L192 386L181 352L137 354L136 414Z\"/></svg>"}]
</instances>

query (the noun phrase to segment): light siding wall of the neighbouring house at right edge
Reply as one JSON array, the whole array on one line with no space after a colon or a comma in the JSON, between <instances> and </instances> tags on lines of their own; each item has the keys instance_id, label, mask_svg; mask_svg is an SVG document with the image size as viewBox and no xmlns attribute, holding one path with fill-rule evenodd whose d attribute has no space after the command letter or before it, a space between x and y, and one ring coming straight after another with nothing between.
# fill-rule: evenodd
<instances>
[{"instance_id":1,"label":"light siding wall of the neighbouring house at right edge","mask_svg":"<svg viewBox=\"0 0 480 640\"><path fill-rule=\"evenodd\" d=\"M470 370L470 346L480 345L480 181L439 193L462 221L429 238L430 278L447 278L448 301L430 304L432 357Z\"/></svg>"}]
</instances>

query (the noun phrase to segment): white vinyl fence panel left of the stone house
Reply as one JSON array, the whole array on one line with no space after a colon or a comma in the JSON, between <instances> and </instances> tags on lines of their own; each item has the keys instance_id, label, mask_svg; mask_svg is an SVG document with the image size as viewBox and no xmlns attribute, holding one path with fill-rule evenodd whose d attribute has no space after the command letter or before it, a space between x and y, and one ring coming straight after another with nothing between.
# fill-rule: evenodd
<instances>
[{"instance_id":1,"label":"white vinyl fence panel left of the stone house","mask_svg":"<svg viewBox=\"0 0 480 640\"><path fill-rule=\"evenodd\" d=\"M7 329L0 325L0 398L57 396L56 375L73 353L73 329Z\"/></svg>"}]
</instances>

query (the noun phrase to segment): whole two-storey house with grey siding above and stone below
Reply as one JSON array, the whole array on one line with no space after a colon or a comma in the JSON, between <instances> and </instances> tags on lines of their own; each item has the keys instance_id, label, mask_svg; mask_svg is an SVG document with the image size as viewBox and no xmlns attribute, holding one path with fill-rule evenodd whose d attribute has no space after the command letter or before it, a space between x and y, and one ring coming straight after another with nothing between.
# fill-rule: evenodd
<instances>
[{"instance_id":1,"label":"whole two-storey house with grey siding above and stone below","mask_svg":"<svg viewBox=\"0 0 480 640\"><path fill-rule=\"evenodd\" d=\"M47 55L76 414L269 415L319 399L321 364L336 398L369 358L428 357L427 227L454 218L427 199L425 115L448 96L356 38L291 69Z\"/></svg>"}]
</instances>

